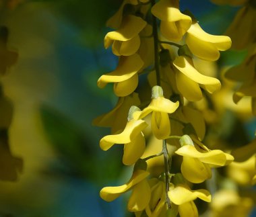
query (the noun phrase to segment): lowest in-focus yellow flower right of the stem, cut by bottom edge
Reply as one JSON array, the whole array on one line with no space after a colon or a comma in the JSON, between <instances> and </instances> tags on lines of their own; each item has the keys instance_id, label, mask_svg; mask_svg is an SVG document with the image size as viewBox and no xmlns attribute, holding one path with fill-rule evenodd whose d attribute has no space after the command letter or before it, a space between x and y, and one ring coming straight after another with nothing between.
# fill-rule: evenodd
<instances>
[{"instance_id":1,"label":"lowest in-focus yellow flower right of the stem, cut by bottom edge","mask_svg":"<svg viewBox=\"0 0 256 217\"><path fill-rule=\"evenodd\" d=\"M198 216L197 207L193 200L200 198L205 202L211 202L211 195L205 189L191 190L185 184L170 186L168 197L173 204L179 205L179 214L181 217Z\"/></svg>"}]
</instances>

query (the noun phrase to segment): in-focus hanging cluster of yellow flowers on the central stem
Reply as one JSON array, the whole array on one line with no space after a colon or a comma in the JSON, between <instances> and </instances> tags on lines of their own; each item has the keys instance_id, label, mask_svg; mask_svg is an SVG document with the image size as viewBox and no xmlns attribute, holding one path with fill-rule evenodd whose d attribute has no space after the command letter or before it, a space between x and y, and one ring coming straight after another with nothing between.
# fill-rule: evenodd
<instances>
[{"instance_id":1,"label":"in-focus hanging cluster of yellow flowers on the central stem","mask_svg":"<svg viewBox=\"0 0 256 217\"><path fill-rule=\"evenodd\" d=\"M207 34L191 12L180 11L179 0L125 0L107 25L114 30L104 46L111 46L119 63L98 79L98 87L113 83L119 100L94 124L111 128L100 148L123 144L123 164L134 167L127 183L104 187L100 196L110 202L131 191L127 209L137 217L198 216L193 201L210 202L211 193L193 189L193 183L211 179L214 168L234 158L201 142L205 122L195 103L218 91L220 81L194 61L218 60L231 40ZM139 77L146 73L148 82L143 82ZM147 87L138 86L140 81ZM149 145L150 140L155 142ZM159 173L156 159L161 159Z\"/></svg>"}]
</instances>

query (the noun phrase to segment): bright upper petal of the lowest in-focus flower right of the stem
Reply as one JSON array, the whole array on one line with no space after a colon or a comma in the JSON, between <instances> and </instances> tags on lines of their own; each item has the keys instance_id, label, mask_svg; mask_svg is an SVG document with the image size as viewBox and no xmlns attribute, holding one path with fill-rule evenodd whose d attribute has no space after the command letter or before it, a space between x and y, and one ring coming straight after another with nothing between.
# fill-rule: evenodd
<instances>
[{"instance_id":1,"label":"bright upper petal of the lowest in-focus flower right of the stem","mask_svg":"<svg viewBox=\"0 0 256 217\"><path fill-rule=\"evenodd\" d=\"M211 202L210 192L205 189L191 190L187 185L179 184L168 191L168 197L177 205L191 202L197 198L205 202Z\"/></svg>"}]
</instances>

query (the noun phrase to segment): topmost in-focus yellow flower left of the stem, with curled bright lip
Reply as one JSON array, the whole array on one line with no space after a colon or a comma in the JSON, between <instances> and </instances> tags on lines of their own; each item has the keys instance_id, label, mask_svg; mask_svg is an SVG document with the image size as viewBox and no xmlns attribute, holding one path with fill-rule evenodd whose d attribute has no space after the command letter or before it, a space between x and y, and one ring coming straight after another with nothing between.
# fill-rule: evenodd
<instances>
[{"instance_id":1,"label":"topmost in-focus yellow flower left of the stem, with curled bright lip","mask_svg":"<svg viewBox=\"0 0 256 217\"><path fill-rule=\"evenodd\" d=\"M146 21L135 15L127 15L123 18L118 30L108 32L104 38L104 46L111 44L113 53L117 56L130 56L137 52L140 45L139 32L146 26Z\"/></svg>"}]
</instances>

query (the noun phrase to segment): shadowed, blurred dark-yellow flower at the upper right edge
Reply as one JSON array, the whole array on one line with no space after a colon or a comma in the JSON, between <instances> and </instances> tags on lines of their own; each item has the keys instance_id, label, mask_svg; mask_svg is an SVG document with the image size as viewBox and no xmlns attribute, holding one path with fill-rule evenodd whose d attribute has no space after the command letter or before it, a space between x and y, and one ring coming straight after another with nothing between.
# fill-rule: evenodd
<instances>
[{"instance_id":1,"label":"shadowed, blurred dark-yellow flower at the upper right edge","mask_svg":"<svg viewBox=\"0 0 256 217\"><path fill-rule=\"evenodd\" d=\"M256 8L249 3L242 7L234 17L234 21L229 26L226 34L232 40L232 48L245 49L255 42L256 34Z\"/></svg>"}]
</instances>

